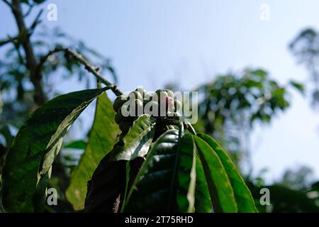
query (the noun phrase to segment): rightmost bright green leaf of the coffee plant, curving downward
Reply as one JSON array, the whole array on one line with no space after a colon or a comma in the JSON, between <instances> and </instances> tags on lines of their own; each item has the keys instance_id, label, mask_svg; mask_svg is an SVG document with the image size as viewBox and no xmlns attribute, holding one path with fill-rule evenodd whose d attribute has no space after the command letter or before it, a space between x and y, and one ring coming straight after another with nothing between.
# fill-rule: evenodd
<instances>
[{"instance_id":1,"label":"rightmost bright green leaf of the coffee plant, curving downward","mask_svg":"<svg viewBox=\"0 0 319 227\"><path fill-rule=\"evenodd\" d=\"M228 178L230 179L230 184L232 184L235 199L237 201L238 212L257 212L257 209L254 206L254 199L252 199L252 194L250 193L250 189L248 189L247 185L240 176L232 160L230 160L230 157L228 157L225 150L223 150L223 148L218 145L216 140L208 135L199 133L198 137L205 140L206 143L208 143L208 145L213 148L213 150L220 158L220 161L222 162L226 170Z\"/></svg>"}]
</instances>

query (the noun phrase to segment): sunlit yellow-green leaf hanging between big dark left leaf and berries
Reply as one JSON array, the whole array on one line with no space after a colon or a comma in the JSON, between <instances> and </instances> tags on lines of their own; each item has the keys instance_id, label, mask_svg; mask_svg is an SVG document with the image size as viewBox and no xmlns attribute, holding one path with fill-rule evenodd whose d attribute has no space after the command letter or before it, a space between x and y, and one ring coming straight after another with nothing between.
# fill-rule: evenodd
<instances>
[{"instance_id":1,"label":"sunlit yellow-green leaf hanging between big dark left leaf and berries","mask_svg":"<svg viewBox=\"0 0 319 227\"><path fill-rule=\"evenodd\" d=\"M86 184L91 179L101 159L112 150L116 136L120 133L118 125L114 121L114 116L112 103L104 93L97 99L89 142L79 160L79 165L72 172L69 188L66 192L68 201L71 202L76 211L84 209ZM75 141L68 147L77 148L78 145L82 144L81 141Z\"/></svg>"}]
</instances>

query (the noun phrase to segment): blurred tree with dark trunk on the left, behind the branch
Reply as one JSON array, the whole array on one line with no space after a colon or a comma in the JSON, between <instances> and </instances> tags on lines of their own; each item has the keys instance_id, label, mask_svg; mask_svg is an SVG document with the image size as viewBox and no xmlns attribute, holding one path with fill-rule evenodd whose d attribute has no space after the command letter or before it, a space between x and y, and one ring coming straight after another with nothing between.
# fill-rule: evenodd
<instances>
[{"instance_id":1,"label":"blurred tree with dark trunk on the left, behind the branch","mask_svg":"<svg viewBox=\"0 0 319 227\"><path fill-rule=\"evenodd\" d=\"M16 21L16 34L7 34L0 40L0 47L4 52L0 60L0 170L7 148L10 147L13 136L21 128L26 118L48 99L59 94L54 81L60 78L72 79L77 77L79 83L91 87L92 80L81 64L67 52L57 52L50 55L57 48L72 48L88 60L94 60L99 65L99 71L110 75L116 81L116 73L110 60L103 57L96 50L87 47L81 40L72 38L59 28L52 30L42 26L42 0L34 1L2 1L12 11ZM26 18L35 15L30 25ZM58 72L58 73L57 73ZM72 148L72 145L69 146ZM69 167L77 160L72 155L59 155L55 162L50 184L60 192L60 211L72 210L67 205L64 194L69 184ZM0 172L1 173L1 172Z\"/></svg>"}]
</instances>

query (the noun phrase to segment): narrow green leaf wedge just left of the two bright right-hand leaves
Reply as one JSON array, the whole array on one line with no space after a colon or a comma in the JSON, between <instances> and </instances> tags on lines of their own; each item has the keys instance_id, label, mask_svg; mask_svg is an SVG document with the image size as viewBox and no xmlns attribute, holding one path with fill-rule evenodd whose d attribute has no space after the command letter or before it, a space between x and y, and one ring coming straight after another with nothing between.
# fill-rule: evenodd
<instances>
[{"instance_id":1,"label":"narrow green leaf wedge just left of the two bright right-hand leaves","mask_svg":"<svg viewBox=\"0 0 319 227\"><path fill-rule=\"evenodd\" d=\"M208 184L206 182L203 165L198 155L196 155L196 189L195 189L195 212L211 213L213 204L209 194Z\"/></svg>"}]
</instances>

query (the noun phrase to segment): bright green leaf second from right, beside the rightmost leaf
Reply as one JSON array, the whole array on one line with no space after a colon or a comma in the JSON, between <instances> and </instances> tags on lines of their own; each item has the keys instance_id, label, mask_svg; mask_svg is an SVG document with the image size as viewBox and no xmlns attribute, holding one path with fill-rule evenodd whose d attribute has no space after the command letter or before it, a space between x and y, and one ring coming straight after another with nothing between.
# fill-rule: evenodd
<instances>
[{"instance_id":1,"label":"bright green leaf second from right, beside the rightmost leaf","mask_svg":"<svg viewBox=\"0 0 319 227\"><path fill-rule=\"evenodd\" d=\"M237 212L233 188L222 162L204 140L194 136L215 212Z\"/></svg>"}]
</instances>

